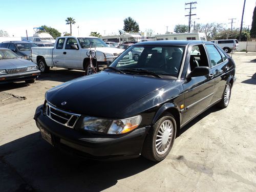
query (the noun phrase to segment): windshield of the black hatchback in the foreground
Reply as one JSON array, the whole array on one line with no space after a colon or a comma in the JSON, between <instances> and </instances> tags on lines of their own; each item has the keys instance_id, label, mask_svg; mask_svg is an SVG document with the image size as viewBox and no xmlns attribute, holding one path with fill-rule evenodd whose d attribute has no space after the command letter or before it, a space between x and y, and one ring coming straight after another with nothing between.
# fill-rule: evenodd
<instances>
[{"instance_id":1,"label":"windshield of the black hatchback in the foreground","mask_svg":"<svg viewBox=\"0 0 256 192\"><path fill-rule=\"evenodd\" d=\"M111 67L124 73L146 70L159 76L178 77L184 50L184 46L132 46Z\"/></svg>"}]
</instances>

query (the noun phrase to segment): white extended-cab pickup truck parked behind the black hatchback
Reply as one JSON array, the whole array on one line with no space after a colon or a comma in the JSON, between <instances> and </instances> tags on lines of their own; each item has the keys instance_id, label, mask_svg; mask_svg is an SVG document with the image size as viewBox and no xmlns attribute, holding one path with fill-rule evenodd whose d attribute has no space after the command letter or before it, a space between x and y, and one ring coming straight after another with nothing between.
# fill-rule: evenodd
<instances>
[{"instance_id":1,"label":"white extended-cab pickup truck parked behind the black hatchback","mask_svg":"<svg viewBox=\"0 0 256 192\"><path fill-rule=\"evenodd\" d=\"M49 71L50 67L67 69L79 69L91 74L89 51L90 46L96 47L96 59L93 65L96 67L108 66L123 49L110 48L98 37L58 37L54 47L33 47L32 61L38 65L41 73Z\"/></svg>"}]
</instances>

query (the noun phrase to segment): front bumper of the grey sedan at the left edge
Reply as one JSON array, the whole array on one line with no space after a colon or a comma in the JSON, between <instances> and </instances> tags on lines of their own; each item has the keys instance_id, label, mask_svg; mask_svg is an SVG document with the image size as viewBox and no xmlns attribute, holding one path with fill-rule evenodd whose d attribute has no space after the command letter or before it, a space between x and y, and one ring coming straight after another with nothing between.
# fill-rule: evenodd
<instances>
[{"instance_id":1,"label":"front bumper of the grey sedan at the left edge","mask_svg":"<svg viewBox=\"0 0 256 192\"><path fill-rule=\"evenodd\" d=\"M0 83L7 82L16 82L16 81L24 81L29 79L34 79L40 75L39 70L24 72L24 73L14 73L14 74L4 74L0 75Z\"/></svg>"}]
</instances>

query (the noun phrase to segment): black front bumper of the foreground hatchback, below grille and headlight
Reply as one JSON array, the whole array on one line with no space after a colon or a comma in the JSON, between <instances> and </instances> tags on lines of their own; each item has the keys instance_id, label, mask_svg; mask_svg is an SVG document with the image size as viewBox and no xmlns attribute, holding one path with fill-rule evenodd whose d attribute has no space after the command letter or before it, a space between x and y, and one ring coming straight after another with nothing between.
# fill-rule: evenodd
<instances>
[{"instance_id":1,"label":"black front bumper of the foreground hatchback, below grille and headlight","mask_svg":"<svg viewBox=\"0 0 256 192\"><path fill-rule=\"evenodd\" d=\"M63 126L42 113L38 106L34 119L39 129L47 131L55 147L80 157L108 160L130 159L141 153L150 126L123 135L96 135Z\"/></svg>"}]
</instances>

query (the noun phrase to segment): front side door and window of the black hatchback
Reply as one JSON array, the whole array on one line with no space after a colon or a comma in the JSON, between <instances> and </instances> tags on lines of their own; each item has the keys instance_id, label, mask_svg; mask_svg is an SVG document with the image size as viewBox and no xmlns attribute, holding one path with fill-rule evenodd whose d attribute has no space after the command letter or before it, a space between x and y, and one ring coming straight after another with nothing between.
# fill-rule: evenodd
<instances>
[{"instance_id":1,"label":"front side door and window of the black hatchback","mask_svg":"<svg viewBox=\"0 0 256 192\"><path fill-rule=\"evenodd\" d=\"M193 71L195 67L210 67L203 44L191 47L188 54L190 58L187 74ZM212 71L210 70L211 73ZM192 77L184 81L183 88L185 102L181 124L185 124L209 106L214 95L214 79L210 75Z\"/></svg>"}]
</instances>

